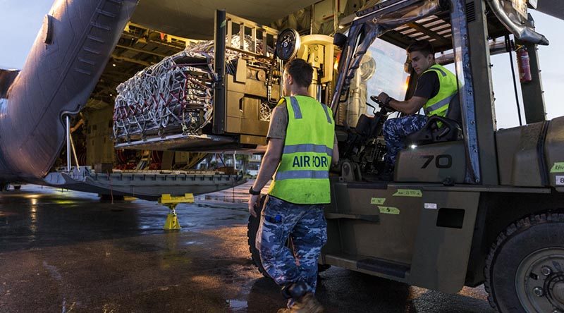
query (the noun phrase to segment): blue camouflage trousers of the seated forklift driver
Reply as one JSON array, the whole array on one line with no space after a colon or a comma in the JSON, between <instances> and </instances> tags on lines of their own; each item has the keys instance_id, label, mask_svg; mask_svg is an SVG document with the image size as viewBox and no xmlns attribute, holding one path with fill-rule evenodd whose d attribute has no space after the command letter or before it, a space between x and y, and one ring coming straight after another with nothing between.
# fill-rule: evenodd
<instances>
[{"instance_id":1,"label":"blue camouflage trousers of the seated forklift driver","mask_svg":"<svg viewBox=\"0 0 564 313\"><path fill-rule=\"evenodd\" d=\"M410 115L400 118L390 118L384 123L384 141L386 141L386 162L396 164L396 156L405 147L405 137L423 128L427 123L427 116Z\"/></svg>"}]
</instances>

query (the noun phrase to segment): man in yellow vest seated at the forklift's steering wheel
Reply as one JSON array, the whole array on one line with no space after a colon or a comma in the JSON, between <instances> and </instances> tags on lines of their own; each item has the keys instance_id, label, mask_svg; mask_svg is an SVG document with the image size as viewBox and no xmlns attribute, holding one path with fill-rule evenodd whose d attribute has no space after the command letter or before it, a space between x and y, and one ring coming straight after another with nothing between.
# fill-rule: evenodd
<instances>
[{"instance_id":1,"label":"man in yellow vest seated at the forklift's steering wheel","mask_svg":"<svg viewBox=\"0 0 564 313\"><path fill-rule=\"evenodd\" d=\"M458 91L456 76L443 66L435 63L433 47L427 40L422 40L407 47L411 65L419 79L413 97L407 101L398 101L382 92L378 99L396 111L407 114L400 118L390 118L384 123L384 140L387 153L386 167L381 176L391 180L396 156L404 147L407 135L417 132L427 123L432 115L446 116L448 103ZM425 115L417 114L423 108Z\"/></svg>"}]
</instances>

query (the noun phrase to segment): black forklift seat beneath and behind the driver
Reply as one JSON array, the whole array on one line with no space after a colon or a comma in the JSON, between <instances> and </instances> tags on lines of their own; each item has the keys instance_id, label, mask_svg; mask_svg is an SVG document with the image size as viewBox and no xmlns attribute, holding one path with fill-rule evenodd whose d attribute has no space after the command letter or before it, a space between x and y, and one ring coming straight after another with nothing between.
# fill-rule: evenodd
<instances>
[{"instance_id":1,"label":"black forklift seat beneath and behind the driver","mask_svg":"<svg viewBox=\"0 0 564 313\"><path fill-rule=\"evenodd\" d=\"M437 123L443 123L441 128ZM446 117L430 116L427 123L415 133L407 135L407 145L428 145L435 142L447 142L462 139L462 117L460 114L460 99L458 92L448 103Z\"/></svg>"}]
</instances>

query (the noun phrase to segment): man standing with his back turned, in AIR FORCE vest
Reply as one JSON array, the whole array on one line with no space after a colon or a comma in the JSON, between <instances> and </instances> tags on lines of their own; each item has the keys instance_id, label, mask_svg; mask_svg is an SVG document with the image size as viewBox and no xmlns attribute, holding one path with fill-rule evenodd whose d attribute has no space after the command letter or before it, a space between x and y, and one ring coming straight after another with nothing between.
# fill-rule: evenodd
<instances>
[{"instance_id":1,"label":"man standing with his back turned, in AIR FORCE vest","mask_svg":"<svg viewBox=\"0 0 564 313\"><path fill-rule=\"evenodd\" d=\"M317 260L327 241L324 204L331 202L329 167L338 161L333 113L309 97L313 68L302 59L286 64L283 94L271 115L266 154L250 188L249 212L273 177L257 232L266 272L281 286L288 307L278 312L323 312L314 297ZM293 253L286 247L290 236Z\"/></svg>"}]
</instances>

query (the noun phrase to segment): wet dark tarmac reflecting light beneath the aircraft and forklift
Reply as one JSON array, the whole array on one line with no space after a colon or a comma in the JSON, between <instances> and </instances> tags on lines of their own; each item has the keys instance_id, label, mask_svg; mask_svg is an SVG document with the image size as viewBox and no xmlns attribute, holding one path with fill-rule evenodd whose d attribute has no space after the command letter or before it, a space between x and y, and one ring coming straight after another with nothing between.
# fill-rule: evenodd
<instances>
[{"instance_id":1,"label":"wet dark tarmac reflecting light beneath the aircraft and forklift","mask_svg":"<svg viewBox=\"0 0 564 313\"><path fill-rule=\"evenodd\" d=\"M24 185L0 195L0 312L276 312L285 301L247 247L249 183L177 207L101 202ZM493 312L484 288L456 295L354 271L320 274L326 312Z\"/></svg>"}]
</instances>

